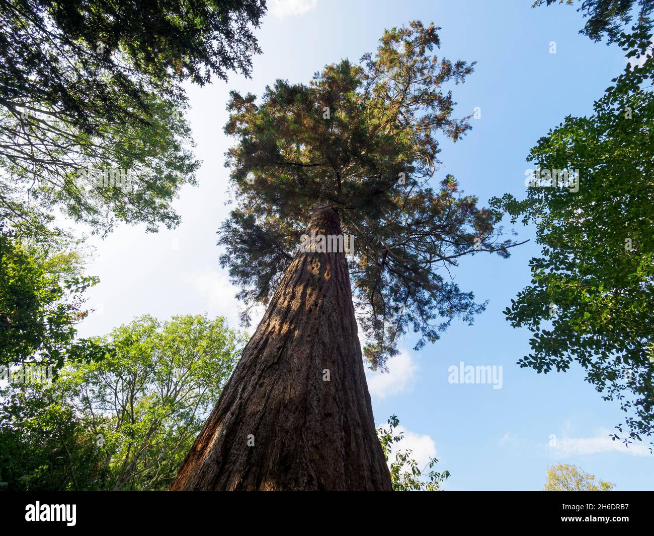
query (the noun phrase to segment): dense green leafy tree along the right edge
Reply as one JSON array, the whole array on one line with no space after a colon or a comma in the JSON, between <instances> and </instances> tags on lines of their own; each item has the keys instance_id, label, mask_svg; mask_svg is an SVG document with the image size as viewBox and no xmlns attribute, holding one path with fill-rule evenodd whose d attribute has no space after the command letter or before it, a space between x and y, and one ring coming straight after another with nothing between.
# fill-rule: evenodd
<instances>
[{"instance_id":1,"label":"dense green leafy tree along the right edge","mask_svg":"<svg viewBox=\"0 0 654 536\"><path fill-rule=\"evenodd\" d=\"M645 28L621 45L641 65L613 79L593 115L566 117L528 157L542 170L578 168L579 191L529 188L524 201L492 204L536 223L543 245L532 284L506 310L533 335L519 364L547 373L579 363L627 412L628 436L621 424L613 439L628 443L654 431L654 60Z\"/></svg>"}]
</instances>

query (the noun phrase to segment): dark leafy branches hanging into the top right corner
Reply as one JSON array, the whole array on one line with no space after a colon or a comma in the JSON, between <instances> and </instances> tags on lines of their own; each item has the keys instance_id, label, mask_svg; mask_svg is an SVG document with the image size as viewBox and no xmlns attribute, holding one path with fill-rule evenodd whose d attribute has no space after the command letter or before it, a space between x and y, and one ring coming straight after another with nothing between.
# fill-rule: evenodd
<instances>
[{"instance_id":1,"label":"dark leafy branches hanging into the top right corner","mask_svg":"<svg viewBox=\"0 0 654 536\"><path fill-rule=\"evenodd\" d=\"M573 0L536 0L532 7L556 3L574 5ZM623 29L626 29L630 22L645 29L652 28L652 0L577 0L577 5L579 4L581 6L577 11L581 11L583 17L588 19L579 33L587 35L593 41L601 41L606 34L607 45L617 43Z\"/></svg>"}]
</instances>

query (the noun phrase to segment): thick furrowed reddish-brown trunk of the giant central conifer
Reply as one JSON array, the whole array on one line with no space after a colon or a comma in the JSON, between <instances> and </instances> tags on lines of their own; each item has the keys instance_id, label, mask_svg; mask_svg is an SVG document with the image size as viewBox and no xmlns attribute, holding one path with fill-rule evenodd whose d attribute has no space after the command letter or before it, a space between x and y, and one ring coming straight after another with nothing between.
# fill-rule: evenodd
<instances>
[{"instance_id":1,"label":"thick furrowed reddish-brown trunk of the giant central conifer","mask_svg":"<svg viewBox=\"0 0 654 536\"><path fill-rule=\"evenodd\" d=\"M343 252L296 255L170 489L390 491Z\"/></svg>"}]
</instances>

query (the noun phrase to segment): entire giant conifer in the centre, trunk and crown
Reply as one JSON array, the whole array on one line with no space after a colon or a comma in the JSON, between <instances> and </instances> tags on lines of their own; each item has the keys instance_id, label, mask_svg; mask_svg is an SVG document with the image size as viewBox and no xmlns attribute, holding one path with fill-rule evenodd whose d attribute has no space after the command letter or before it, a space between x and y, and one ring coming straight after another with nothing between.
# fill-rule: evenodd
<instances>
[{"instance_id":1,"label":"entire giant conifer in the centre, trunk and crown","mask_svg":"<svg viewBox=\"0 0 654 536\"><path fill-rule=\"evenodd\" d=\"M453 318L472 322L484 304L447 270L511 245L495 244L500 215L451 176L428 185L438 134L470 128L443 85L472 65L432 56L437 31L390 29L361 65L327 66L309 85L279 80L261 104L232 93L239 201L220 263L248 306L269 305L171 489L391 488L355 307L366 357L383 368L407 326L421 348ZM342 249L298 252L303 233L354 235L349 262Z\"/></svg>"}]
</instances>

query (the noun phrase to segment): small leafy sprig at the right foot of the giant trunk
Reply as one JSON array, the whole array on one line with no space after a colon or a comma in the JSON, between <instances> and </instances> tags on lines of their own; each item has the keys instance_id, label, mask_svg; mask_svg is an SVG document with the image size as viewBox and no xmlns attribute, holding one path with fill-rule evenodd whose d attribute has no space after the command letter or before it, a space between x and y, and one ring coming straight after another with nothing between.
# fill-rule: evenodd
<instances>
[{"instance_id":1,"label":"small leafy sprig at the right foot of the giant trunk","mask_svg":"<svg viewBox=\"0 0 654 536\"><path fill-rule=\"evenodd\" d=\"M394 448L394 445L396 446L404 437L404 432L396 432L399 425L398 417L391 415L388 417L388 428L382 426L377 429L384 457L387 462L392 459L388 464L388 469L390 470L390 480L393 483L393 491L441 491L441 484L450 476L449 471L435 471L434 465L438 463L438 459L432 457L426 467L420 469L418 462L411 457L413 451ZM427 469L429 472L425 474Z\"/></svg>"}]
</instances>

